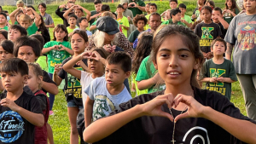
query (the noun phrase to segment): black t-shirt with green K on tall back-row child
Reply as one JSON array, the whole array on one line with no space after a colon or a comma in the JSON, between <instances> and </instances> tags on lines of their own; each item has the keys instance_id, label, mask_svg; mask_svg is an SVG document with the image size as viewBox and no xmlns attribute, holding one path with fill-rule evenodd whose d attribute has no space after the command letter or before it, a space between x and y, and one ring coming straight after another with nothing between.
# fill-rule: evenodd
<instances>
[{"instance_id":1,"label":"black t-shirt with green K on tall back-row child","mask_svg":"<svg viewBox=\"0 0 256 144\"><path fill-rule=\"evenodd\" d=\"M201 22L195 26L195 34L200 37L200 48L202 52L211 52L211 43L214 39L221 35L218 24L206 24Z\"/></svg>"}]
</instances>

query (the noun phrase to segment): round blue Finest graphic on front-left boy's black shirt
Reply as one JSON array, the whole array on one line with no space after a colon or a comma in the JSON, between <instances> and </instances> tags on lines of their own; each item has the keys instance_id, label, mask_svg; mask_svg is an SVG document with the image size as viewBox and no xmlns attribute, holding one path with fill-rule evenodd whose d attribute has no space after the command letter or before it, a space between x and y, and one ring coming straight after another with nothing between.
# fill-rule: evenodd
<instances>
[{"instance_id":1,"label":"round blue Finest graphic on front-left boy's black shirt","mask_svg":"<svg viewBox=\"0 0 256 144\"><path fill-rule=\"evenodd\" d=\"M5 111L0 114L0 141L16 141L24 132L24 122L18 112Z\"/></svg>"}]
</instances>

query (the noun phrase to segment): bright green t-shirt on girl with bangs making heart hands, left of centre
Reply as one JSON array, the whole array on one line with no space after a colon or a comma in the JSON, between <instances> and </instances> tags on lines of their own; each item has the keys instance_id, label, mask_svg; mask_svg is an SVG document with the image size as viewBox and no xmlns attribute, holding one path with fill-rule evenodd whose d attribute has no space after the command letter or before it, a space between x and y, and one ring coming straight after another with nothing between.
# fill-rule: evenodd
<instances>
[{"instance_id":1,"label":"bright green t-shirt on girl with bangs making heart hands, left of centre","mask_svg":"<svg viewBox=\"0 0 256 144\"><path fill-rule=\"evenodd\" d=\"M60 44L67 47L68 49L71 49L71 45L67 41L63 41L63 42L50 41L44 44L44 48L49 48L54 45L60 45ZM70 54L67 53L66 50L56 50L56 49L50 50L48 53L46 53L46 55L48 58L49 73L53 73L55 71L56 64L61 64L63 60L67 59L70 56Z\"/></svg>"}]
</instances>

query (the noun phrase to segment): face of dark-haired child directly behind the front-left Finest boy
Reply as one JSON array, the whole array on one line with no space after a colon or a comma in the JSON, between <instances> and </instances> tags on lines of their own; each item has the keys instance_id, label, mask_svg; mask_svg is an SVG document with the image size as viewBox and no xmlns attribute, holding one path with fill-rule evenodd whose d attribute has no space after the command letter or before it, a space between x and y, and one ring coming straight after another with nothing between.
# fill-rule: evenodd
<instances>
[{"instance_id":1,"label":"face of dark-haired child directly behind the front-left Finest boy","mask_svg":"<svg viewBox=\"0 0 256 144\"><path fill-rule=\"evenodd\" d=\"M19 59L25 60L26 62L35 62L38 57L35 55L31 46L21 46L18 51Z\"/></svg>"}]
</instances>

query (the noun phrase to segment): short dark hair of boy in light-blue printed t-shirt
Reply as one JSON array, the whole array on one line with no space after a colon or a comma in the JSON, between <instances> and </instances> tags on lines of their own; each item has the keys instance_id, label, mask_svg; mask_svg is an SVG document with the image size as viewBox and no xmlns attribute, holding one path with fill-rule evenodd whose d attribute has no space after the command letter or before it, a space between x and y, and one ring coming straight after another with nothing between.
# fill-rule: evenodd
<instances>
[{"instance_id":1,"label":"short dark hair of boy in light-blue printed t-shirt","mask_svg":"<svg viewBox=\"0 0 256 144\"><path fill-rule=\"evenodd\" d=\"M131 71L131 56L123 51L108 55L107 61L108 65L120 65L124 72Z\"/></svg>"}]
</instances>

